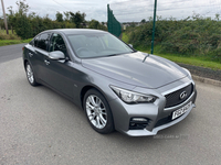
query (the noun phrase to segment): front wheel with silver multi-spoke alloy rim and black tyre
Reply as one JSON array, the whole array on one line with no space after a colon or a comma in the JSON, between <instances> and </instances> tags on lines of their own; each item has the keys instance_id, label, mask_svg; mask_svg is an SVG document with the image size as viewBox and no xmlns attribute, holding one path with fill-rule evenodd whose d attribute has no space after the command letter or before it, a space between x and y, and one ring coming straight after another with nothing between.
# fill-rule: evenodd
<instances>
[{"instance_id":1,"label":"front wheel with silver multi-spoke alloy rim and black tyre","mask_svg":"<svg viewBox=\"0 0 221 165\"><path fill-rule=\"evenodd\" d=\"M96 132L107 134L114 131L110 108L99 91L90 89L84 96L83 107L87 121Z\"/></svg>"}]
</instances>

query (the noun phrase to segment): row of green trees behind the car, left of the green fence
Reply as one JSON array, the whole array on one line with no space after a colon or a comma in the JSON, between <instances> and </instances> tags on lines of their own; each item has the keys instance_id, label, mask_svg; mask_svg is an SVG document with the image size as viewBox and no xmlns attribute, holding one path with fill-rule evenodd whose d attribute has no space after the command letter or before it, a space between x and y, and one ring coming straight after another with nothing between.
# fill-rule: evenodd
<instances>
[{"instance_id":1,"label":"row of green trees behind the car, left of the green fence","mask_svg":"<svg viewBox=\"0 0 221 165\"><path fill-rule=\"evenodd\" d=\"M17 1L17 10L12 10L12 7L8 8L9 24L13 26L13 30L21 38L30 38L35 36L42 31L51 29L73 29L73 28L86 28L85 16L86 14L80 11L73 12L56 12L56 20L51 20L49 15L41 18L35 12L29 13L29 4L27 0ZM0 25L2 21L0 20ZM91 29L98 29L107 31L105 23L99 23L96 20L90 21Z\"/></svg>"}]
</instances>

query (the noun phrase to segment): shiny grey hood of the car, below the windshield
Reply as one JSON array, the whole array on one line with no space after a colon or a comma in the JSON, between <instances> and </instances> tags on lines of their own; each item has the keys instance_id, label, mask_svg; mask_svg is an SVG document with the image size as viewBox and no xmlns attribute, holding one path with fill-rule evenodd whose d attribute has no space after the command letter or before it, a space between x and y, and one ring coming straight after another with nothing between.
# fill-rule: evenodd
<instances>
[{"instance_id":1,"label":"shiny grey hood of the car, below the windshield","mask_svg":"<svg viewBox=\"0 0 221 165\"><path fill-rule=\"evenodd\" d=\"M141 52L82 59L82 65L109 78L145 88L159 88L188 74L177 64Z\"/></svg>"}]
</instances>

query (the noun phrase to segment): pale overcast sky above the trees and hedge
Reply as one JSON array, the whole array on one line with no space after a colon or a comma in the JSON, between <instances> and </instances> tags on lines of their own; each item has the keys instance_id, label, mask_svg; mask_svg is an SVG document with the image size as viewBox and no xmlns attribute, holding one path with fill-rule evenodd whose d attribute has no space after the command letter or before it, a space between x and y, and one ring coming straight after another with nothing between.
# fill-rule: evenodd
<instances>
[{"instance_id":1,"label":"pale overcast sky above the trees and hedge","mask_svg":"<svg viewBox=\"0 0 221 165\"><path fill-rule=\"evenodd\" d=\"M12 6L17 10L17 0L3 0L4 9ZM86 20L107 21L107 3L119 22L140 22L152 16L155 0L27 0L29 12L36 12L40 16L49 14L55 19L56 11L81 11L86 13ZM214 18L221 14L221 0L158 0L157 15L162 18L186 19L194 13ZM2 8L0 6L0 15Z\"/></svg>"}]
</instances>

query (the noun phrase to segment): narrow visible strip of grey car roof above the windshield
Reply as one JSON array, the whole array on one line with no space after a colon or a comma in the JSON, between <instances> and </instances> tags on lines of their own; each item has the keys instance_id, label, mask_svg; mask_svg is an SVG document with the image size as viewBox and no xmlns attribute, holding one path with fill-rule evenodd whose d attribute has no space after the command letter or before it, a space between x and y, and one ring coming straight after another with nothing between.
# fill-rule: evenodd
<instances>
[{"instance_id":1,"label":"narrow visible strip of grey car roof above the windshield","mask_svg":"<svg viewBox=\"0 0 221 165\"><path fill-rule=\"evenodd\" d=\"M69 35L69 34L106 33L105 31L92 30L92 29L56 29L56 30L48 30L44 32L62 32L66 35Z\"/></svg>"}]
</instances>

